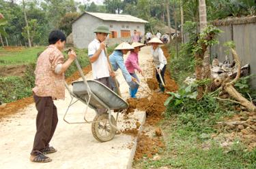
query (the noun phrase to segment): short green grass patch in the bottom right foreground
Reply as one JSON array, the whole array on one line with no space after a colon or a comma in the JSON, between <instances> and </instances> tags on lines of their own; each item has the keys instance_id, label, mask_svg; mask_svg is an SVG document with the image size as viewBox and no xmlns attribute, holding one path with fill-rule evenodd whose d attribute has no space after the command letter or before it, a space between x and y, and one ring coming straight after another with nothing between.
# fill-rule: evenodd
<instances>
[{"instance_id":1,"label":"short green grass patch in the bottom right foreground","mask_svg":"<svg viewBox=\"0 0 256 169\"><path fill-rule=\"evenodd\" d=\"M182 169L242 169L256 168L256 149L251 152L244 151L245 147L236 140L229 149L220 146L220 143L199 138L197 132L190 132L177 125L175 120L165 119L167 147L160 154L160 160L143 159L139 168L168 168ZM207 145L207 146L205 146Z\"/></svg>"}]
</instances>

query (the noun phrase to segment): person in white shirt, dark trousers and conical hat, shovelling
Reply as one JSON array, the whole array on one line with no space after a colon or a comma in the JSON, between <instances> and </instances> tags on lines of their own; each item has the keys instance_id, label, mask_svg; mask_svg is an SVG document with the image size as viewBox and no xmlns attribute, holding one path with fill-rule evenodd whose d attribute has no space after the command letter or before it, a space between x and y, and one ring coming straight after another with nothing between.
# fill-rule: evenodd
<instances>
[{"instance_id":1,"label":"person in white shirt, dark trousers and conical hat, shovelling","mask_svg":"<svg viewBox=\"0 0 256 169\"><path fill-rule=\"evenodd\" d=\"M162 41L160 41L160 39L157 37L154 37L149 41L149 43L152 45L150 50L153 56L154 64L156 65L156 79L160 88L160 90L157 92L165 92L165 86L163 86L162 81L165 83L165 69L167 66L167 59L165 58L164 52L162 52L162 49L159 47L159 45L162 44ZM162 81L158 73L160 73Z\"/></svg>"}]
</instances>

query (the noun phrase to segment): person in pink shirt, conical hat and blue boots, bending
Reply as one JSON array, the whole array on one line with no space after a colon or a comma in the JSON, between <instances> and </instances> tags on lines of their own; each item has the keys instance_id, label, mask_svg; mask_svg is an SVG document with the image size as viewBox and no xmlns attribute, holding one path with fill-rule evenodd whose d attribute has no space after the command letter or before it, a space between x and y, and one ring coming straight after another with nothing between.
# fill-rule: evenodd
<instances>
[{"instance_id":1,"label":"person in pink shirt, conical hat and blue boots, bending","mask_svg":"<svg viewBox=\"0 0 256 169\"><path fill-rule=\"evenodd\" d=\"M142 43L133 42L132 47L134 48L134 50L130 51L130 54L125 62L127 71L130 73L130 75L132 77L137 79L138 82L139 82L139 78L137 77L137 75L135 73L135 69L137 71L139 71L139 73L141 73L141 75L143 75L143 71L139 67L139 57L138 57L139 51L141 51L141 47L143 47L143 46L144 46L144 44L142 44ZM138 84L135 85L134 90L130 89L130 97L136 98L135 95L137 94L138 89L139 89Z\"/></svg>"}]
</instances>

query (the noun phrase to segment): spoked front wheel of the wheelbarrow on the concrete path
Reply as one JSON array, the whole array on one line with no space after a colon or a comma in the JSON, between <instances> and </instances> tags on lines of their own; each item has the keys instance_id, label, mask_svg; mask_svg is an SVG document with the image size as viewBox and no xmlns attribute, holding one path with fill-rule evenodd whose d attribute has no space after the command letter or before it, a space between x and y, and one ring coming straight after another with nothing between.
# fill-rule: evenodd
<instances>
[{"instance_id":1,"label":"spoked front wheel of the wheelbarrow on the concrete path","mask_svg":"<svg viewBox=\"0 0 256 169\"><path fill-rule=\"evenodd\" d=\"M109 114L103 113L101 115L97 114L94 117L94 123L91 124L91 132L99 142L106 142L112 140L115 136L115 128L112 128L109 124ZM111 115L111 122L113 125L117 125L117 121L113 115Z\"/></svg>"}]
</instances>

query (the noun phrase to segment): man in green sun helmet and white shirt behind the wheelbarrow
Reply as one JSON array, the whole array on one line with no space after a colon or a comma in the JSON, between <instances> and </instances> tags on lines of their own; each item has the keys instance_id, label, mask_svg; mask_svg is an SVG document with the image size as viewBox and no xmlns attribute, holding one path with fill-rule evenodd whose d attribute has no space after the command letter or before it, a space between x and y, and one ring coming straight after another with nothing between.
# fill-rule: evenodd
<instances>
[{"instance_id":1,"label":"man in green sun helmet and white shirt behind the wheelbarrow","mask_svg":"<svg viewBox=\"0 0 256 169\"><path fill-rule=\"evenodd\" d=\"M104 52L106 50L104 41L110 34L110 31L107 26L100 25L94 33L96 33L96 38L88 45L88 56L89 61L91 62L92 75L96 81L111 88L109 78L115 74L111 71L110 64L106 58L106 53Z\"/></svg>"}]
</instances>

